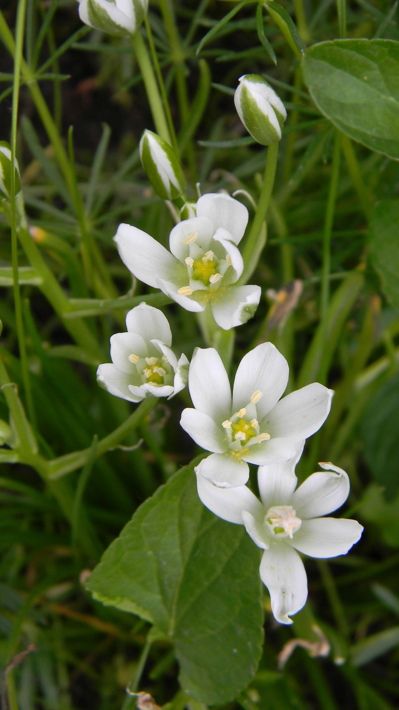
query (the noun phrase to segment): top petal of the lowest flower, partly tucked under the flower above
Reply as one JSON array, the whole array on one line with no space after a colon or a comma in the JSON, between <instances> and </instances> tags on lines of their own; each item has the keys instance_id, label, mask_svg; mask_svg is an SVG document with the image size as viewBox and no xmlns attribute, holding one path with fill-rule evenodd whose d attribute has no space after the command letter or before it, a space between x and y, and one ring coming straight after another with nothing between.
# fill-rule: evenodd
<instances>
[{"instance_id":1,"label":"top petal of the lowest flower, partly tucked under the flower above","mask_svg":"<svg viewBox=\"0 0 399 710\"><path fill-rule=\"evenodd\" d=\"M296 489L298 479L295 467L303 451L305 442L298 442L296 456L281 464L259 466L258 486L262 503L266 510L271 506L286 506L291 503L291 496Z\"/></svg>"}]
</instances>

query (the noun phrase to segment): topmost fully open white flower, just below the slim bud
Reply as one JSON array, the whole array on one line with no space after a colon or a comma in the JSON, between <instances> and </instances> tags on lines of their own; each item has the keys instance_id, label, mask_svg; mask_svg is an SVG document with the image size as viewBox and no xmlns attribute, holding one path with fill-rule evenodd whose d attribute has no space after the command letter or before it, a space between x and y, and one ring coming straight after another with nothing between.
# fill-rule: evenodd
<instances>
[{"instance_id":1,"label":"topmost fully open white flower, just below the slim bud","mask_svg":"<svg viewBox=\"0 0 399 710\"><path fill-rule=\"evenodd\" d=\"M229 195L200 197L196 217L176 224L169 253L145 231L120 224L114 237L120 258L136 278L189 311L209 303L225 330L247 322L261 295L259 286L235 286L244 263L237 244L248 222L247 208Z\"/></svg>"}]
</instances>

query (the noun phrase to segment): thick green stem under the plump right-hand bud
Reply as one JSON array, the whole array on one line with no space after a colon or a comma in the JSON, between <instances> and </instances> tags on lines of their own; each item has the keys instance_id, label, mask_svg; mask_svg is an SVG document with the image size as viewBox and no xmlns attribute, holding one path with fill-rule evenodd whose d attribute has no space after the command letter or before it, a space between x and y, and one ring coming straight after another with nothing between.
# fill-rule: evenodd
<instances>
[{"instance_id":1,"label":"thick green stem under the plump right-hand bud","mask_svg":"<svg viewBox=\"0 0 399 710\"><path fill-rule=\"evenodd\" d=\"M266 168L264 170L264 181L259 195L257 212L255 213L254 221L252 222L251 230L249 231L245 247L242 252L244 260L244 271L240 278L240 284L247 283L249 276L254 271L252 264L252 254L257 252L257 242L262 236L262 225L266 217L269 200L274 185L274 177L276 175L277 154L279 153L279 143L271 143L267 151Z\"/></svg>"}]
</instances>

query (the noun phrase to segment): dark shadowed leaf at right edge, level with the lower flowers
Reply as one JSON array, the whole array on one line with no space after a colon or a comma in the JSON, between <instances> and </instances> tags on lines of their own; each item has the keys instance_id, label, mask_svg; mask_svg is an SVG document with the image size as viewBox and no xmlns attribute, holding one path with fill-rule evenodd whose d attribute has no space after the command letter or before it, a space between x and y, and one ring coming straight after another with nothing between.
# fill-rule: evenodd
<instances>
[{"instance_id":1,"label":"dark shadowed leaf at right edge, level with the lower flowers","mask_svg":"<svg viewBox=\"0 0 399 710\"><path fill-rule=\"evenodd\" d=\"M399 490L399 374L389 378L373 395L360 422L363 453L373 478L386 487L387 496Z\"/></svg>"}]
</instances>

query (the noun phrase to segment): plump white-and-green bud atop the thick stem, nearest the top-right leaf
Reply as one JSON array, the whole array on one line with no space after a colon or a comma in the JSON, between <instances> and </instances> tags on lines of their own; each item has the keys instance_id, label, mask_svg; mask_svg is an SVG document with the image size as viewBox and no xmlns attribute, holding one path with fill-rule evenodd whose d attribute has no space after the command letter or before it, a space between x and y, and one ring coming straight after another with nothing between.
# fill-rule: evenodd
<instances>
[{"instance_id":1,"label":"plump white-and-green bud atop the thick stem, nearest the top-right leaf","mask_svg":"<svg viewBox=\"0 0 399 710\"><path fill-rule=\"evenodd\" d=\"M239 81L234 95L235 108L248 133L262 146L280 141L287 117L281 99L257 74L246 74Z\"/></svg>"}]
</instances>

